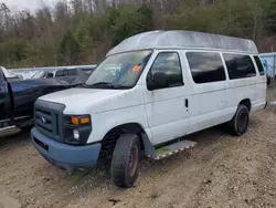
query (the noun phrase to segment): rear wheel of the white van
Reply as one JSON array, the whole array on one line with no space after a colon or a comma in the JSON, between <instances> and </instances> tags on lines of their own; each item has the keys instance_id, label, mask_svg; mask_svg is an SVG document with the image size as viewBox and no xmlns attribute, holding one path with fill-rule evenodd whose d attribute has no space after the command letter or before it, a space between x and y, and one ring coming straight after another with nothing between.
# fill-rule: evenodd
<instances>
[{"instance_id":1,"label":"rear wheel of the white van","mask_svg":"<svg viewBox=\"0 0 276 208\"><path fill-rule=\"evenodd\" d=\"M243 104L237 106L234 117L231 119L229 127L230 133L234 136L242 136L246 133L250 124L248 107Z\"/></svg>"}]
</instances>

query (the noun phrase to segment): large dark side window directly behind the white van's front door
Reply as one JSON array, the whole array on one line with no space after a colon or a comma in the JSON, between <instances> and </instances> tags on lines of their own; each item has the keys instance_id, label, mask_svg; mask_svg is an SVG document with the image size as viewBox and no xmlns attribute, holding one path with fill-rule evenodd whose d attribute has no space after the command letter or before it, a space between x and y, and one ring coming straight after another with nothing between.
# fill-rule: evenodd
<instances>
[{"instance_id":1,"label":"large dark side window directly behind the white van's front door","mask_svg":"<svg viewBox=\"0 0 276 208\"><path fill-rule=\"evenodd\" d=\"M221 55L215 52L187 52L193 81L198 84L225 81Z\"/></svg>"}]
</instances>

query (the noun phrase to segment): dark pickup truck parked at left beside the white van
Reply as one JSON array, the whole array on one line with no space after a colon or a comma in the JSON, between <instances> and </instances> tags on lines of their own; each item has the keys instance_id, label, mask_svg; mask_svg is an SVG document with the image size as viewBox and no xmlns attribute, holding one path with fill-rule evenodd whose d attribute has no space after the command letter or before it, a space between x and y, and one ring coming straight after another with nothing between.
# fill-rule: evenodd
<instances>
[{"instance_id":1,"label":"dark pickup truck parked at left beside the white van","mask_svg":"<svg viewBox=\"0 0 276 208\"><path fill-rule=\"evenodd\" d=\"M59 79L12 79L7 72L0 66L0 135L2 131L14 127L30 129L38 97L81 84Z\"/></svg>"}]
</instances>

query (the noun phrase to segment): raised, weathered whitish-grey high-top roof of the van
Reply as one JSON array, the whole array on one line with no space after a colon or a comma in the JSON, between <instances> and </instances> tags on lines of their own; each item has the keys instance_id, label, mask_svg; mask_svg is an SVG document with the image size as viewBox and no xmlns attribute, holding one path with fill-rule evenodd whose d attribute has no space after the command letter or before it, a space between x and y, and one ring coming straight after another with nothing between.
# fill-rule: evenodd
<instances>
[{"instance_id":1,"label":"raised, weathered whitish-grey high-top roof of the van","mask_svg":"<svg viewBox=\"0 0 276 208\"><path fill-rule=\"evenodd\" d=\"M211 49L258 53L257 46L252 40L184 30L159 30L140 33L124 40L112 49L107 56L146 49Z\"/></svg>"}]
</instances>

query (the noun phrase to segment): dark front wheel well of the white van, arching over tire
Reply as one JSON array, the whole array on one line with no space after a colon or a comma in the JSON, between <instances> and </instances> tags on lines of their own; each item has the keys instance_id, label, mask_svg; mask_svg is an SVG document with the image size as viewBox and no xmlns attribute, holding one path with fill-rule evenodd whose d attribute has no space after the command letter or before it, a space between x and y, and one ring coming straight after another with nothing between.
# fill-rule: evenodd
<instances>
[{"instance_id":1,"label":"dark front wheel well of the white van, arching over tire","mask_svg":"<svg viewBox=\"0 0 276 208\"><path fill-rule=\"evenodd\" d=\"M142 134L146 134L140 124L128 123L114 127L104 137L102 142L100 157L110 160L113 150L121 134L137 134L140 138L141 149L144 149Z\"/></svg>"}]
</instances>

